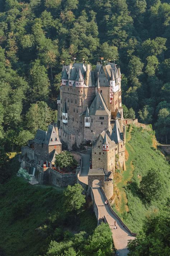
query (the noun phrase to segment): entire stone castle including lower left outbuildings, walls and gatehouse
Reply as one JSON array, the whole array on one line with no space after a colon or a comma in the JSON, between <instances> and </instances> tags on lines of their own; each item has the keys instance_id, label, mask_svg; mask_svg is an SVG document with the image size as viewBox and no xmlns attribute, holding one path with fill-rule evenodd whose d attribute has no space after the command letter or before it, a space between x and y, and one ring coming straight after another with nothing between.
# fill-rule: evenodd
<instances>
[{"instance_id":1,"label":"entire stone castle including lower left outbuildings, walls and gatehouse","mask_svg":"<svg viewBox=\"0 0 170 256\"><path fill-rule=\"evenodd\" d=\"M48 131L37 130L29 146L22 148L23 167L40 184L73 185L76 178L79 182L81 167L74 174L61 174L55 166L55 156L62 147L67 148L81 165L80 149L88 147L91 149L85 184L88 193L98 179L108 199L111 198L115 162L118 168L126 169L120 68L115 63L105 66L97 63L94 71L90 64L84 63L63 66L57 104L58 127L49 125ZM89 162L84 164L89 166Z\"/></svg>"}]
</instances>

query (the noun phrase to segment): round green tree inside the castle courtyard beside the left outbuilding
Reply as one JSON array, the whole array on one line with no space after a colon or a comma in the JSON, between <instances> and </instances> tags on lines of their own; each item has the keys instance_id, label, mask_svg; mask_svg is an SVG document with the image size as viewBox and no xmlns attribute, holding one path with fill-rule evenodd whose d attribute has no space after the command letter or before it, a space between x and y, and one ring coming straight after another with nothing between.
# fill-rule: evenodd
<instances>
[{"instance_id":1,"label":"round green tree inside the castle courtyard beside the left outbuilding","mask_svg":"<svg viewBox=\"0 0 170 256\"><path fill-rule=\"evenodd\" d=\"M76 166L77 162L69 151L63 151L56 155L55 163L60 168Z\"/></svg>"}]
</instances>

